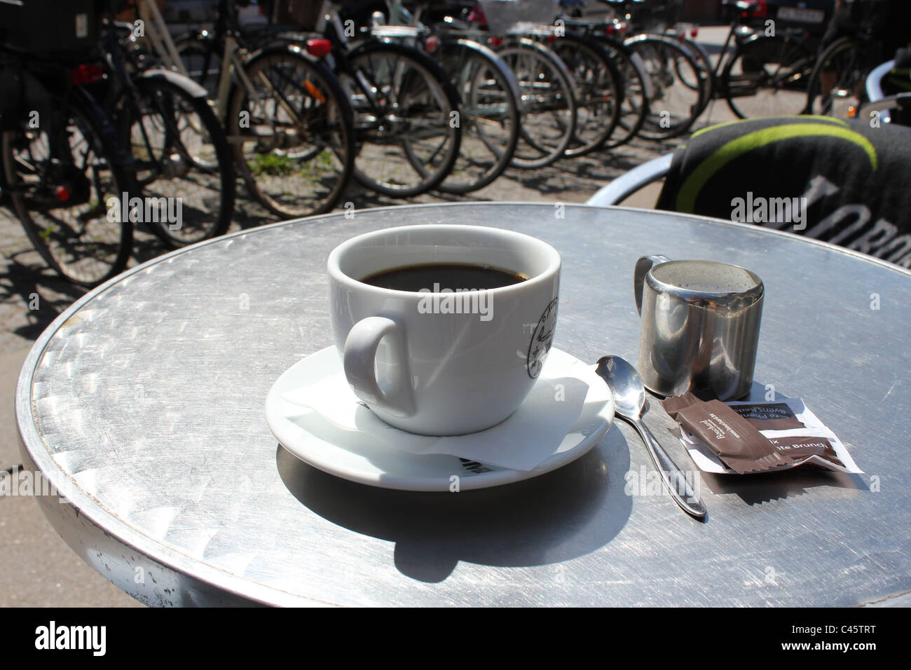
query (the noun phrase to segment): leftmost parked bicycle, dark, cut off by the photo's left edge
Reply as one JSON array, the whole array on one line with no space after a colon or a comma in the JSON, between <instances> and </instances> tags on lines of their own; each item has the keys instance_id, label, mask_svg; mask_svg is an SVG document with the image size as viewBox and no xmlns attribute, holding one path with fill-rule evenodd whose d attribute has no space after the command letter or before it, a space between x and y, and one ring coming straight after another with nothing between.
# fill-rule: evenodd
<instances>
[{"instance_id":1,"label":"leftmost parked bicycle, dark, cut off by the photo's left edge","mask_svg":"<svg viewBox=\"0 0 911 670\"><path fill-rule=\"evenodd\" d=\"M91 287L127 266L133 226L113 205L134 191L135 167L87 89L104 76L94 55L100 12L56 7L70 26L77 14L91 18L52 44L36 35L48 9L0 7L0 89L13 92L0 100L0 192L45 262Z\"/></svg>"}]
</instances>

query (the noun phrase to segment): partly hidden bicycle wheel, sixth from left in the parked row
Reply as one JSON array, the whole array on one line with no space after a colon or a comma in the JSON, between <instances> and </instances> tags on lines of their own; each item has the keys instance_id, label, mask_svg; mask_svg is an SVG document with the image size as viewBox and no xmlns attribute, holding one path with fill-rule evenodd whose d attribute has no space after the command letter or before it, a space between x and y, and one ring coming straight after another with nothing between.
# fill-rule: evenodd
<instances>
[{"instance_id":1,"label":"partly hidden bicycle wheel, sixth from left in the parked row","mask_svg":"<svg viewBox=\"0 0 911 670\"><path fill-rule=\"evenodd\" d=\"M576 132L576 97L566 64L535 40L518 37L496 48L521 93L521 132L511 164L526 170L562 157Z\"/></svg>"}]
</instances>

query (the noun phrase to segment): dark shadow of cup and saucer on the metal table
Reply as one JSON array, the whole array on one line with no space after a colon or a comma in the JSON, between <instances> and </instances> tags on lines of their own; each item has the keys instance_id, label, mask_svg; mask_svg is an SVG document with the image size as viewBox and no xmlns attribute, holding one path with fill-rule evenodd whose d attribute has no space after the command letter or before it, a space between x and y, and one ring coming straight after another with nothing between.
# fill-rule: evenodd
<instances>
[{"instance_id":1,"label":"dark shadow of cup and saucer on the metal table","mask_svg":"<svg viewBox=\"0 0 911 670\"><path fill-rule=\"evenodd\" d=\"M616 427L563 468L455 493L381 489L339 479L281 445L276 460L297 500L343 528L394 541L395 567L420 582L443 582L460 561L530 567L578 558L611 541L632 510L624 493L630 449Z\"/></svg>"}]
</instances>

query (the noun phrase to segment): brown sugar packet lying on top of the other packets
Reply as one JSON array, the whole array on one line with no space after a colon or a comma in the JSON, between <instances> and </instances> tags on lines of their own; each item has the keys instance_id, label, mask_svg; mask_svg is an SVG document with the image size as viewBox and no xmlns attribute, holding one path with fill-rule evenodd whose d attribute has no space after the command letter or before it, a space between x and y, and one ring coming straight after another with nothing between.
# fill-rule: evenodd
<instances>
[{"instance_id":1,"label":"brown sugar packet lying on top of the other packets","mask_svg":"<svg viewBox=\"0 0 911 670\"><path fill-rule=\"evenodd\" d=\"M671 418L739 474L780 468L793 462L750 422L719 400L703 402L692 394L661 403Z\"/></svg>"}]
</instances>

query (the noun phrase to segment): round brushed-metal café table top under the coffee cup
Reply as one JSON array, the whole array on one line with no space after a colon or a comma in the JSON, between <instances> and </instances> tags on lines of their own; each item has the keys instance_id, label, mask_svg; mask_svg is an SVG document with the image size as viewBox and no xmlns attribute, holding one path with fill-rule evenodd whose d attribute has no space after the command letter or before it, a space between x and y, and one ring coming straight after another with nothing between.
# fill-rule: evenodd
<instances>
[{"instance_id":1,"label":"round brushed-metal caf\u00e9 table top under the coffee cup","mask_svg":"<svg viewBox=\"0 0 911 670\"><path fill-rule=\"evenodd\" d=\"M853 605L911 590L911 273L820 242L667 212L453 204L285 222L138 266L36 342L16 413L65 541L148 604ZM460 493L374 489L292 457L263 417L281 373L332 343L325 260L355 234L461 222L563 258L554 345L635 360L637 257L743 265L766 286L754 392L808 407L863 476L703 474L700 523L617 422L548 475ZM646 421L694 469L651 411ZM632 473L628 475L628 473Z\"/></svg>"}]
</instances>

